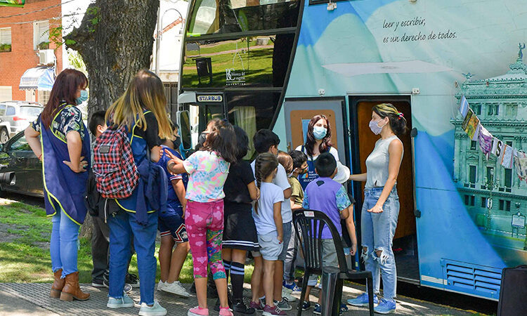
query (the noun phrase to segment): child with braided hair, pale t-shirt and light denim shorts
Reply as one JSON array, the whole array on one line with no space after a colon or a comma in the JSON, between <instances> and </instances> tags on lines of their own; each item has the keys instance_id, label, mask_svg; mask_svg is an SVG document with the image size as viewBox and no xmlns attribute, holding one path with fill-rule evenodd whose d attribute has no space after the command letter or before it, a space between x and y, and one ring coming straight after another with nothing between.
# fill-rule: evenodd
<instances>
[{"instance_id":1,"label":"child with braided hair, pale t-shirt and light denim shorts","mask_svg":"<svg viewBox=\"0 0 527 316\"><path fill-rule=\"evenodd\" d=\"M286 315L273 301L275 262L282 253L282 188L273 184L278 169L278 160L274 154L263 153L256 157L256 186L260 189L260 198L254 204L254 223L258 230L258 243L263 258L263 291L266 305L263 316ZM281 289L280 289L281 294Z\"/></svg>"}]
</instances>

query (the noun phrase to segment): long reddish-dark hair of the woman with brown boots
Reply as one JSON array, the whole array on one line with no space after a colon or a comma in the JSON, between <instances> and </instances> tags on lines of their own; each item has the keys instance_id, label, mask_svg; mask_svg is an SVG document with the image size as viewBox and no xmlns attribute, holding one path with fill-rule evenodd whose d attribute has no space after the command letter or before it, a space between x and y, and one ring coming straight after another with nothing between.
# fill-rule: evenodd
<instances>
[{"instance_id":1,"label":"long reddish-dark hair of the woman with brown boots","mask_svg":"<svg viewBox=\"0 0 527 316\"><path fill-rule=\"evenodd\" d=\"M60 72L57 79L55 79L53 88L51 88L51 93L49 93L48 103L46 103L40 115L44 127L49 128L51 119L53 119L61 105L64 103L77 105L75 102L77 90L86 86L88 86L88 78L79 70L65 69Z\"/></svg>"}]
</instances>

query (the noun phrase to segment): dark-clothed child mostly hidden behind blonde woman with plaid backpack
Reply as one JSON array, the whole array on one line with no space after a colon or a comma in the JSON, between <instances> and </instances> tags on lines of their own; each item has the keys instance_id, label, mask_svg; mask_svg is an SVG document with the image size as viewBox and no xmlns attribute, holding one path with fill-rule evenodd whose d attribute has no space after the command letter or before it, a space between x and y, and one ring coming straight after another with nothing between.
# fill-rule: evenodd
<instances>
[{"instance_id":1,"label":"dark-clothed child mostly hidden behind blonde woman with plaid backpack","mask_svg":"<svg viewBox=\"0 0 527 316\"><path fill-rule=\"evenodd\" d=\"M91 114L90 121L88 122L88 127L95 138L98 138L100 134L104 133L108 126L106 126L105 121L106 111L98 111ZM108 224L105 223L105 211L109 209L115 209L116 204L113 201L110 201L106 207L104 206L104 199L100 197L100 194L96 190L95 178L93 176L93 171L89 171L89 191L90 196L86 197L90 202L86 203L89 209L93 209L90 213L98 213L99 216L92 216L93 219L93 232L91 234L91 259L93 261L93 270L91 270L91 286L92 287L109 287L109 261L108 261L108 249L110 247L110 228ZM111 211L110 211L111 213ZM134 248L133 246L131 247ZM131 257L131 256L130 256ZM128 273L126 273L127 278ZM138 281L136 281L139 284ZM138 286L138 285L137 285ZM132 285L126 282L124 284L124 291L129 293L132 290Z\"/></svg>"}]
</instances>

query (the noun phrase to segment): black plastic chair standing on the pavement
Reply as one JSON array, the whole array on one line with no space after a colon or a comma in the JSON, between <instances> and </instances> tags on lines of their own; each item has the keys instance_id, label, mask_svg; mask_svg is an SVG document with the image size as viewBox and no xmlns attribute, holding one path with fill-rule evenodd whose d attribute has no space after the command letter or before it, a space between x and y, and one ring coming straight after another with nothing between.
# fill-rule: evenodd
<instances>
[{"instance_id":1,"label":"black plastic chair standing on the pavement","mask_svg":"<svg viewBox=\"0 0 527 316\"><path fill-rule=\"evenodd\" d=\"M351 216L351 215L350 215ZM322 230L327 226L332 235L335 249L337 249L337 258L339 260L339 274L336 284L334 286L335 294L332 305L340 308L340 301L342 297L342 287L344 279L366 279L366 288L369 298L370 315L373 316L373 280L371 271L357 271L348 269L346 264L346 256L344 256L344 248L342 240L335 228L332 220L321 211L299 210L293 213L294 230L299 238L302 252L304 253L305 272L302 284L302 293L299 300L298 316L302 312L302 302L306 296L308 278L310 275L322 275ZM337 301L335 301L337 300ZM338 315L338 313L337 313Z\"/></svg>"}]
</instances>

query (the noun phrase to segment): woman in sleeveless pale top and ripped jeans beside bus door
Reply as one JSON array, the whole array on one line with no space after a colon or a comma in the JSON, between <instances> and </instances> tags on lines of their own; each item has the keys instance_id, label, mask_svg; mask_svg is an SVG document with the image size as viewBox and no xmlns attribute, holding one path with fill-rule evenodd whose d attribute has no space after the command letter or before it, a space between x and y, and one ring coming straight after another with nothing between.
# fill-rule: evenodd
<instances>
[{"instance_id":1,"label":"woman in sleeveless pale top and ripped jeans beside bus door","mask_svg":"<svg viewBox=\"0 0 527 316\"><path fill-rule=\"evenodd\" d=\"M399 214L396 182L403 160L403 143L398 136L406 131L406 119L396 107L382 103L373 107L370 129L381 138L366 159L366 173L353 174L349 179L366 182L360 220L363 245L361 258L366 270L372 271L373 300L379 304L375 312L388 314L396 309L397 274L391 246ZM384 298L379 299L381 272ZM348 303L367 306L367 294L351 298Z\"/></svg>"}]
</instances>

